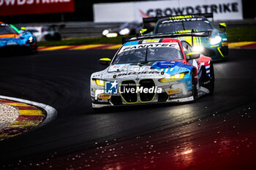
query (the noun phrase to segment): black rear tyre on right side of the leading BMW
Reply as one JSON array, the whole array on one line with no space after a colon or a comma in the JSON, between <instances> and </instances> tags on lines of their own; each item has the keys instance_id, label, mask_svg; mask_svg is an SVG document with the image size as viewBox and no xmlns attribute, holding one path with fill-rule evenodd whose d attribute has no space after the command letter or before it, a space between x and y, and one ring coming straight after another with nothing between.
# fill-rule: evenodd
<instances>
[{"instance_id":1,"label":"black rear tyre on right side of the leading BMW","mask_svg":"<svg viewBox=\"0 0 256 170\"><path fill-rule=\"evenodd\" d=\"M214 93L214 65L210 63L210 77L206 75L206 69L203 69L203 87L207 88L210 91L210 94ZM207 84L205 84L207 83Z\"/></svg>"}]
</instances>

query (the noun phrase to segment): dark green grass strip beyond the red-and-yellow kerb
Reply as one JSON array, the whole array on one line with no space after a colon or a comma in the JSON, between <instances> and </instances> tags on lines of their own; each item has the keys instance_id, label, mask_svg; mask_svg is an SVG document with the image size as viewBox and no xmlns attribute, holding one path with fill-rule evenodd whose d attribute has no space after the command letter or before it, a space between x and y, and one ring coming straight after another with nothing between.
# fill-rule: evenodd
<instances>
[{"instance_id":1,"label":"dark green grass strip beyond the red-and-yellow kerb","mask_svg":"<svg viewBox=\"0 0 256 170\"><path fill-rule=\"evenodd\" d=\"M256 26L244 26L238 28L227 28L228 42L256 42ZM38 42L38 46L59 46L59 45L105 45L121 44L121 36L93 37L93 38L74 38L61 41Z\"/></svg>"}]
</instances>

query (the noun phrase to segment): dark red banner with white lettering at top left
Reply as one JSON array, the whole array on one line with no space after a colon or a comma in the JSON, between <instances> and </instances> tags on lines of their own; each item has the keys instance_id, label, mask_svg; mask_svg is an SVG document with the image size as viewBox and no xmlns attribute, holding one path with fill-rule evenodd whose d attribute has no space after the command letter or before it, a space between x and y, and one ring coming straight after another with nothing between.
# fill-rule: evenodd
<instances>
[{"instance_id":1,"label":"dark red banner with white lettering at top left","mask_svg":"<svg viewBox=\"0 0 256 170\"><path fill-rule=\"evenodd\" d=\"M74 0L0 0L0 16L74 11Z\"/></svg>"}]
</instances>

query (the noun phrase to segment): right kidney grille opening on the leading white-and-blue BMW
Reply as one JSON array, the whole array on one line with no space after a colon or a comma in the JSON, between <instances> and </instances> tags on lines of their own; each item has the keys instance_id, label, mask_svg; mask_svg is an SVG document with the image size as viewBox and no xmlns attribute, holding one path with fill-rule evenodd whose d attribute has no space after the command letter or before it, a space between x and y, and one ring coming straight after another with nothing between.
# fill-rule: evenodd
<instances>
[{"instance_id":1,"label":"right kidney grille opening on the leading white-and-blue BMW","mask_svg":"<svg viewBox=\"0 0 256 170\"><path fill-rule=\"evenodd\" d=\"M155 86L154 81L151 79L140 80L140 87L143 88L152 88ZM155 93L140 93L140 101L148 102L152 101L155 96Z\"/></svg>"}]
</instances>

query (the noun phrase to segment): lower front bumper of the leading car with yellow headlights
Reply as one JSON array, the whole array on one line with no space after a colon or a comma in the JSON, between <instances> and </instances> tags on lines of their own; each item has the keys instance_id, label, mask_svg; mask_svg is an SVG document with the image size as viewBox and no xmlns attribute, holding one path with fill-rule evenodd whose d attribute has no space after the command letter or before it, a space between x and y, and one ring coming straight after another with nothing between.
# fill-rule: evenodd
<instances>
[{"instance_id":1,"label":"lower front bumper of the leading car with yellow headlights","mask_svg":"<svg viewBox=\"0 0 256 170\"><path fill-rule=\"evenodd\" d=\"M124 80L122 82L132 83L133 80ZM140 85L141 85L140 80ZM148 79L146 79L148 81ZM157 85L153 84L148 87L156 88ZM134 81L135 82L135 81ZM144 84L144 86L146 86ZM173 88L172 88L173 87ZM136 88L136 86L135 86ZM153 103L166 103L166 102L186 102L193 101L193 94L191 90L191 85L186 85L184 82L176 82L173 85L167 84L164 86L158 86L161 88L161 92L153 90L153 93L122 93L122 84L117 94L105 94L103 89L91 89L91 103L92 107L110 107L110 106L121 106L121 105L132 105L132 104L153 104ZM101 95L105 94L105 95Z\"/></svg>"}]
</instances>

